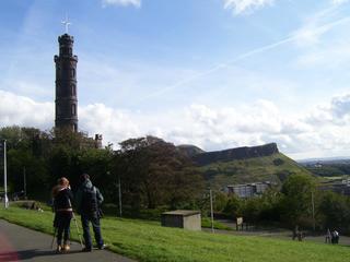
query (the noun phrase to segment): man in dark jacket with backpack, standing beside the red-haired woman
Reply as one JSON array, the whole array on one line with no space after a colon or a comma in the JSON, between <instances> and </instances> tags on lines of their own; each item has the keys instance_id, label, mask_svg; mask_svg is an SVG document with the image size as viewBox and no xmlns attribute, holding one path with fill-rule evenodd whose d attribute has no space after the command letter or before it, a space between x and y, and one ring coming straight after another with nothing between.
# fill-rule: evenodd
<instances>
[{"instance_id":1,"label":"man in dark jacket with backpack, standing beside the red-haired woman","mask_svg":"<svg viewBox=\"0 0 350 262\"><path fill-rule=\"evenodd\" d=\"M90 176L83 174L80 177L80 187L75 195L77 211L81 215L81 224L83 227L83 236L85 241L84 252L92 250L92 241L90 236L89 223L91 222L94 230L95 240L98 249L104 249L106 246L103 242L100 226L100 205L103 202L103 195L100 190L92 184Z\"/></svg>"}]
</instances>

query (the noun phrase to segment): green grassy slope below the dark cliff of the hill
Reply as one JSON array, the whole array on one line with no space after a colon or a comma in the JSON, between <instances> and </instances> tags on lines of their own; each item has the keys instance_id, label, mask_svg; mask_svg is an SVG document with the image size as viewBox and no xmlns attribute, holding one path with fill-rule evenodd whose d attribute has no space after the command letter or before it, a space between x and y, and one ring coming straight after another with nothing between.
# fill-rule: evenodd
<instances>
[{"instance_id":1,"label":"green grassy slope below the dark cliff of the hill","mask_svg":"<svg viewBox=\"0 0 350 262\"><path fill-rule=\"evenodd\" d=\"M278 162L275 164L273 160L276 159L281 159L282 164ZM281 153L243 160L217 162L199 169L217 188L257 181L280 182L291 174L312 176L304 167L299 166L293 159Z\"/></svg>"}]
</instances>

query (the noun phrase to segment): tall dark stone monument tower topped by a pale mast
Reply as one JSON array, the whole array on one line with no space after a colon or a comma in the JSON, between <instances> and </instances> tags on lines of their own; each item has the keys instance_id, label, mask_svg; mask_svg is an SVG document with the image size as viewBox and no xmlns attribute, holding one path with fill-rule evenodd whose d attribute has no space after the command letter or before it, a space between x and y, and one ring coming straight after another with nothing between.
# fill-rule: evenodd
<instances>
[{"instance_id":1,"label":"tall dark stone monument tower topped by a pale mast","mask_svg":"<svg viewBox=\"0 0 350 262\"><path fill-rule=\"evenodd\" d=\"M56 63L56 117L55 127L78 132L78 93L77 93L77 62L73 55L74 37L68 34L58 37L59 56L55 56Z\"/></svg>"}]
</instances>

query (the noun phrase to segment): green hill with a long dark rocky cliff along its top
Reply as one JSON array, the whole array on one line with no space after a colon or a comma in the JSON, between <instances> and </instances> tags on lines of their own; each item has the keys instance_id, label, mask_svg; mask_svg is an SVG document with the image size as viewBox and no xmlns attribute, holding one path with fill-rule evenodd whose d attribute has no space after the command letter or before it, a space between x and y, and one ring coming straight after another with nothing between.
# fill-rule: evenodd
<instances>
[{"instance_id":1,"label":"green hill with a long dark rocky cliff along its top","mask_svg":"<svg viewBox=\"0 0 350 262\"><path fill-rule=\"evenodd\" d=\"M190 148L190 150L188 150ZM276 143L196 154L187 147L198 169L213 188L228 184L271 181L280 184L292 174L313 176L304 167L279 152Z\"/></svg>"}]
</instances>

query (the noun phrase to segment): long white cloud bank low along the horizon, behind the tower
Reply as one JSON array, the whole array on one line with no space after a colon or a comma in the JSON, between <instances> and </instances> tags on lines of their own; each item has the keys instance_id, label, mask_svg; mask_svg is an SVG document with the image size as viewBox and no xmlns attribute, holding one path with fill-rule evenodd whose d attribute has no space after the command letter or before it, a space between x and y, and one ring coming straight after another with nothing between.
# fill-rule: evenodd
<instances>
[{"instance_id":1,"label":"long white cloud bank low along the horizon, behind the tower","mask_svg":"<svg viewBox=\"0 0 350 262\"><path fill-rule=\"evenodd\" d=\"M37 103L0 91L0 127L48 130L54 103ZM141 114L103 104L79 107L79 126L90 135L102 133L115 145L129 138L153 134L175 144L207 151L277 142L296 157L350 155L350 94L336 96L312 111L285 115L269 100L234 107L191 105L179 110Z\"/></svg>"}]
</instances>

